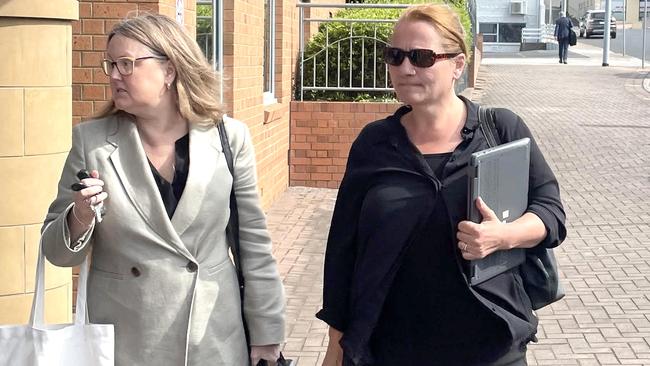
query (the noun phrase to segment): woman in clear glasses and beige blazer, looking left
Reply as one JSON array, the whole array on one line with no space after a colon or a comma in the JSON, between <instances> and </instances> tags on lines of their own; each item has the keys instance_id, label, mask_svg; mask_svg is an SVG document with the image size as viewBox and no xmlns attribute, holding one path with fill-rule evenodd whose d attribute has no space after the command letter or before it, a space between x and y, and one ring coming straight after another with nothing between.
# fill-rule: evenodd
<instances>
[{"instance_id":1,"label":"woman in clear glasses and beige blazer, looking left","mask_svg":"<svg viewBox=\"0 0 650 366\"><path fill-rule=\"evenodd\" d=\"M89 317L115 325L118 366L276 360L283 288L257 194L251 135L223 115L217 75L182 26L161 15L117 24L101 66L111 100L73 128L42 229L46 257L75 266L92 255ZM250 355L226 241L231 189Z\"/></svg>"}]
</instances>

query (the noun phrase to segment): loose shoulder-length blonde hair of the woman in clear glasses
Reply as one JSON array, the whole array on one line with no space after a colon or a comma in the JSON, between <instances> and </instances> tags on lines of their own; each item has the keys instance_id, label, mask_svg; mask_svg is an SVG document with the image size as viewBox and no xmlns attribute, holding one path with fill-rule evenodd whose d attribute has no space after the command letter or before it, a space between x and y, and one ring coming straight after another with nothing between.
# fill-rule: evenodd
<instances>
[{"instance_id":1,"label":"loose shoulder-length blonde hair of the woman in clear glasses","mask_svg":"<svg viewBox=\"0 0 650 366\"><path fill-rule=\"evenodd\" d=\"M138 41L156 56L164 56L176 68L172 88L178 97L178 110L187 121L210 125L221 119L219 102L220 80L198 44L181 25L159 14L145 14L125 19L108 34L108 42L116 36ZM96 117L106 117L123 111L111 101Z\"/></svg>"}]
</instances>

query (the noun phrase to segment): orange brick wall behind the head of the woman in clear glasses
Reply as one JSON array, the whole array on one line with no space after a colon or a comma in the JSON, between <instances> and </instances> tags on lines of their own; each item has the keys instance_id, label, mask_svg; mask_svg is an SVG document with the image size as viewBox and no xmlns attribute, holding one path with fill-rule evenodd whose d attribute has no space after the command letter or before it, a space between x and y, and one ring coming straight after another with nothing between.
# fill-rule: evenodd
<instances>
[{"instance_id":1,"label":"orange brick wall behind the head of the woman in clear glasses","mask_svg":"<svg viewBox=\"0 0 650 366\"><path fill-rule=\"evenodd\" d=\"M99 62L105 57L106 34L115 23L138 13L176 14L174 0L80 0L79 20L72 23L72 123L101 110L110 99L108 77ZM196 6L185 2L185 25L195 33Z\"/></svg>"}]
</instances>

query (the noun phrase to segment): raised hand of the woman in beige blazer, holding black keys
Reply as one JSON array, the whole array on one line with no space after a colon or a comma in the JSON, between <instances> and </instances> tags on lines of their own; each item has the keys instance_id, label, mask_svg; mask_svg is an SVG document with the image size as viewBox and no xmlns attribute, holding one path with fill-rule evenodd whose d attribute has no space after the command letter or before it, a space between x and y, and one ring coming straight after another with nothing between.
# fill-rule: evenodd
<instances>
[{"instance_id":1,"label":"raised hand of the woman in beige blazer, holding black keys","mask_svg":"<svg viewBox=\"0 0 650 366\"><path fill-rule=\"evenodd\" d=\"M93 206L101 204L107 197L108 193L104 192L104 181L99 179L99 172L93 170L90 178L81 180L86 188L75 191L72 194L74 205L68 215L68 227L70 228L70 238L76 240L86 232L95 219Z\"/></svg>"}]
</instances>

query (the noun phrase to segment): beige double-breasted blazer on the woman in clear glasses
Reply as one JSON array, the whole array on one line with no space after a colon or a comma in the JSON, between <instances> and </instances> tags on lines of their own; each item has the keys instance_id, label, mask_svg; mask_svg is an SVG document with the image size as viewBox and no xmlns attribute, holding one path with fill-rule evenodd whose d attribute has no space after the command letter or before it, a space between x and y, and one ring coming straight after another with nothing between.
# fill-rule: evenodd
<instances>
[{"instance_id":1,"label":"beige double-breasted blazer on the woman in clear glasses","mask_svg":"<svg viewBox=\"0 0 650 366\"><path fill-rule=\"evenodd\" d=\"M224 118L235 160L245 313L254 345L284 341L284 293L257 193L243 123ZM225 228L233 184L215 127L190 127L187 183L170 220L135 124L108 117L73 128L58 195L43 225L50 262L74 266L92 251L88 306L115 324L116 365L246 365L234 266ZM66 216L79 169L97 169L104 220L70 249Z\"/></svg>"}]
</instances>

